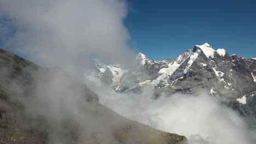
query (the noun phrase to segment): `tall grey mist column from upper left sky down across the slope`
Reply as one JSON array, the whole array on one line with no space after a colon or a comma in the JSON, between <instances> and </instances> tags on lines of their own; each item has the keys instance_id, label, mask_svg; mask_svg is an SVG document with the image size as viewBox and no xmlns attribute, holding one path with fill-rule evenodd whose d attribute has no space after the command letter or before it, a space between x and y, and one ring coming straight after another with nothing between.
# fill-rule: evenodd
<instances>
[{"instance_id":1,"label":"tall grey mist column from upper left sky down across the slope","mask_svg":"<svg viewBox=\"0 0 256 144\"><path fill-rule=\"evenodd\" d=\"M42 66L24 68L8 88L9 99L24 106L16 119L22 127L46 131L47 143L73 143L74 136L80 143L118 143L112 128L120 121L81 77L94 56L132 65L126 7L120 0L0 0L1 48ZM13 65L1 74L12 74Z\"/></svg>"}]
</instances>

